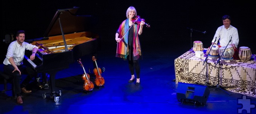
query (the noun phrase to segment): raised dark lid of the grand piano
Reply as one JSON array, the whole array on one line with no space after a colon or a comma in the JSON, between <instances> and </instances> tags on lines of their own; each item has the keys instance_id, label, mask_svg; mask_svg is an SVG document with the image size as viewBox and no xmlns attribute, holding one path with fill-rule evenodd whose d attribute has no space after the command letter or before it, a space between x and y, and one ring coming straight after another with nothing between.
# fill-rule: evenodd
<instances>
[{"instance_id":1,"label":"raised dark lid of the grand piano","mask_svg":"<svg viewBox=\"0 0 256 114\"><path fill-rule=\"evenodd\" d=\"M44 33L44 37L62 35L61 26L64 34L88 31L92 25L92 16L75 15L78 9L79 7L58 9Z\"/></svg>"}]
</instances>

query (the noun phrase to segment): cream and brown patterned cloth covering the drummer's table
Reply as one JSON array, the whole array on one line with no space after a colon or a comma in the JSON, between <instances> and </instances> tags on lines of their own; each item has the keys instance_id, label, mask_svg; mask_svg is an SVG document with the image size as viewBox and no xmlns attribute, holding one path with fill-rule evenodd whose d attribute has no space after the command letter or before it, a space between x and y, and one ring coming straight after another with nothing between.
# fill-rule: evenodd
<instances>
[{"instance_id":1,"label":"cream and brown patterned cloth covering the drummer's table","mask_svg":"<svg viewBox=\"0 0 256 114\"><path fill-rule=\"evenodd\" d=\"M195 56L191 49L174 60L176 83L190 83L222 88L256 97L256 56L249 61L219 60ZM219 60L219 61L218 61ZM218 63L217 63L218 62Z\"/></svg>"}]
</instances>

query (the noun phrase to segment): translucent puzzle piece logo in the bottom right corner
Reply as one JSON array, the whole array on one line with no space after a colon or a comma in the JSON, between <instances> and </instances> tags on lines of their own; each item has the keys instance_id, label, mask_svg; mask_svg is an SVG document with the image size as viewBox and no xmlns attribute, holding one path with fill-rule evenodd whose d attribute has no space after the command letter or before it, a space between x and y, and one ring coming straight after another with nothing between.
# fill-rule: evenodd
<instances>
[{"instance_id":1,"label":"translucent puzzle piece logo in the bottom right corner","mask_svg":"<svg viewBox=\"0 0 256 114\"><path fill-rule=\"evenodd\" d=\"M238 114L241 114L243 110L247 111L247 114L251 114L251 109L256 108L256 105L251 103L251 98L247 99L245 95L242 98L238 98L237 104L242 105L242 108L238 108Z\"/></svg>"}]
</instances>

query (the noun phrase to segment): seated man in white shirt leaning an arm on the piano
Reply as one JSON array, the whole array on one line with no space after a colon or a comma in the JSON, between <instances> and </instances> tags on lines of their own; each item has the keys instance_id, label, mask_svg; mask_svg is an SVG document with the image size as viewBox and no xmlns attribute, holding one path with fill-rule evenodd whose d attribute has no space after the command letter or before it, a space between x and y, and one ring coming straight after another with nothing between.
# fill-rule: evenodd
<instances>
[{"instance_id":1,"label":"seated man in white shirt leaning an arm on the piano","mask_svg":"<svg viewBox=\"0 0 256 114\"><path fill-rule=\"evenodd\" d=\"M26 90L26 85L29 84L32 78L37 77L37 73L30 66L26 66L23 64L23 58L25 50L32 51L32 55L30 56L31 60L35 59L35 54L37 53L38 47L32 44L24 42L25 40L25 31L19 30L16 34L16 39L13 41L7 50L6 58L3 61L4 71L5 73L12 76L14 79L14 88L15 93L17 94L17 103L22 104L23 100L21 97L21 91L24 93L30 93L31 90ZM24 79L22 83L21 74L27 74L27 77Z\"/></svg>"}]
</instances>

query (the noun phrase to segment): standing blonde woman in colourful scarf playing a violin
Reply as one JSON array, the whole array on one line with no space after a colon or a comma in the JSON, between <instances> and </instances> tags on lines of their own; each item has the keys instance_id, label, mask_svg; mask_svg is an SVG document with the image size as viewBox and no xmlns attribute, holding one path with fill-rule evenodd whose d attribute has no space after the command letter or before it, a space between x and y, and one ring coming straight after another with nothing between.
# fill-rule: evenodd
<instances>
[{"instance_id":1,"label":"standing blonde woman in colourful scarf playing a violin","mask_svg":"<svg viewBox=\"0 0 256 114\"><path fill-rule=\"evenodd\" d=\"M128 66L131 73L131 79L128 82L131 83L135 80L135 70L136 85L140 85L139 59L142 58L142 53L139 36L142 34L145 22L139 18L134 20L136 16L136 9L133 6L130 6L126 11L127 19L120 24L116 32L116 57L128 60Z\"/></svg>"}]
</instances>

